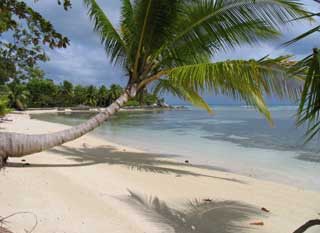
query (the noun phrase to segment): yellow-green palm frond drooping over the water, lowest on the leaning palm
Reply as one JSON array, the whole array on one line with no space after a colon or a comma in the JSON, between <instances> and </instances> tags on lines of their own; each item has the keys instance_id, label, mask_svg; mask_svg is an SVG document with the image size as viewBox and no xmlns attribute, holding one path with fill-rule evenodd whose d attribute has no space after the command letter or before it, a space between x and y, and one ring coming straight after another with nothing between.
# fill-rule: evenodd
<instances>
[{"instance_id":1,"label":"yellow-green palm frond drooping over the water, lowest on the leaning palm","mask_svg":"<svg viewBox=\"0 0 320 233\"><path fill-rule=\"evenodd\" d=\"M286 58L260 61L233 60L176 67L166 75L176 86L192 87L196 92L213 91L256 107L271 122L264 95L297 98L301 84L287 79Z\"/></svg>"}]
</instances>

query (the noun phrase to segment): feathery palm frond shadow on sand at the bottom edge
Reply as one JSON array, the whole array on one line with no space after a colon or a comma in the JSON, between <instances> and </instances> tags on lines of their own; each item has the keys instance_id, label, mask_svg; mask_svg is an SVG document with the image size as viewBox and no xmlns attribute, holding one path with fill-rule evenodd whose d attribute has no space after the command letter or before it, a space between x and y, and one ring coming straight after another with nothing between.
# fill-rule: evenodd
<instances>
[{"instance_id":1,"label":"feathery palm frond shadow on sand at the bottom edge","mask_svg":"<svg viewBox=\"0 0 320 233\"><path fill-rule=\"evenodd\" d=\"M126 200L147 216L148 220L174 233L247 233L257 228L250 226L252 217L264 214L256 207L236 201L190 201L183 210L169 207L157 197L142 197L132 191Z\"/></svg>"}]
</instances>

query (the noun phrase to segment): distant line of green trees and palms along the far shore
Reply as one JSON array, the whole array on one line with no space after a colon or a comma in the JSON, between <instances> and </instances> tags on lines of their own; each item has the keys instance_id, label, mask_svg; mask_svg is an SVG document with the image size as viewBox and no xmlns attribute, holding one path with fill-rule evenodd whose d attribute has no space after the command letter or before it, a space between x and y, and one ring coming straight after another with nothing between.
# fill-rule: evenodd
<instances>
[{"instance_id":1,"label":"distant line of green trees and palms along the far shore","mask_svg":"<svg viewBox=\"0 0 320 233\"><path fill-rule=\"evenodd\" d=\"M14 80L0 86L0 108L25 110L26 108L75 107L106 107L123 93L120 85L112 84L96 87L93 85L73 85L69 81L55 84L52 80L31 78L27 82ZM163 101L147 91L142 92L127 106L153 105ZM1 109L0 109L1 111Z\"/></svg>"}]
</instances>

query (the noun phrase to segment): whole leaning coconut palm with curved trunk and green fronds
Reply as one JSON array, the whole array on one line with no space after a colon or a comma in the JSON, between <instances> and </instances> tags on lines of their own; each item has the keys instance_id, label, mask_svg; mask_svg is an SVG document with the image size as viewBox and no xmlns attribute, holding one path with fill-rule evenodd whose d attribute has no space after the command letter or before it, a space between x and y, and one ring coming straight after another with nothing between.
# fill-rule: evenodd
<instances>
[{"instance_id":1,"label":"whole leaning coconut palm with curved trunk and green fronds","mask_svg":"<svg viewBox=\"0 0 320 233\"><path fill-rule=\"evenodd\" d=\"M20 157L74 140L98 127L137 92L159 80L183 89L183 98L210 110L204 91L230 95L271 120L263 96L296 94L279 59L212 62L219 52L280 35L307 12L295 0L121 0L116 29L95 0L84 0L113 64L127 73L122 95L106 111L76 127L43 135L0 134L0 157ZM292 91L292 92L291 92Z\"/></svg>"}]
</instances>

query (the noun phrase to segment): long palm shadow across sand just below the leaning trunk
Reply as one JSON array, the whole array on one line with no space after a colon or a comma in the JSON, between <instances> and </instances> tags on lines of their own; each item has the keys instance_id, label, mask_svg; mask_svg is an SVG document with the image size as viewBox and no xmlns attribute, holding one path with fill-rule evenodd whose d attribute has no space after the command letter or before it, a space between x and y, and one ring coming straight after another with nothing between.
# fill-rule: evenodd
<instances>
[{"instance_id":1,"label":"long palm shadow across sand just below the leaning trunk","mask_svg":"<svg viewBox=\"0 0 320 233\"><path fill-rule=\"evenodd\" d=\"M63 155L69 160L75 161L73 164L29 164L27 167L81 167L96 164L123 165L132 170L175 174L177 176L191 175L201 176L214 179L221 179L230 182L245 184L245 182L233 178L211 176L198 172L187 170L187 167L201 168L206 170L227 171L223 168L207 165L191 165L170 158L178 158L176 155L152 154L152 153L135 153L127 151L118 151L114 147L94 147L94 148L73 148L60 146L51 149L50 152ZM9 167L23 167L22 163L9 163Z\"/></svg>"}]
</instances>

